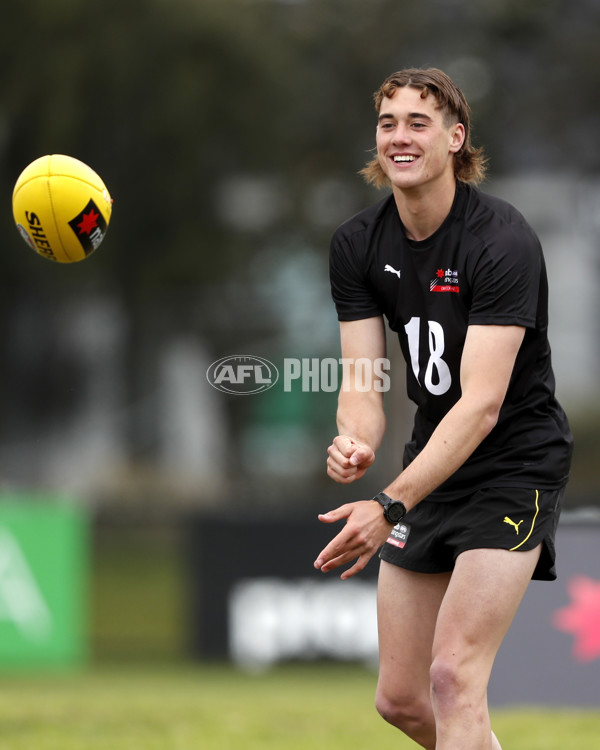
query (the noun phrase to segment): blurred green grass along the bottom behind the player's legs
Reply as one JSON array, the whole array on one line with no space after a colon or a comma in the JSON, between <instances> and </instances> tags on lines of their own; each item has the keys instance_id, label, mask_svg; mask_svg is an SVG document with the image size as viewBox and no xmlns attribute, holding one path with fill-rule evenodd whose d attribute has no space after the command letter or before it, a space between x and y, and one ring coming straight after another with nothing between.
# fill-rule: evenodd
<instances>
[{"instance_id":1,"label":"blurred green grass along the bottom behind the player's legs","mask_svg":"<svg viewBox=\"0 0 600 750\"><path fill-rule=\"evenodd\" d=\"M0 677L2 750L409 750L373 708L373 673L290 666L102 667ZM600 748L600 712L495 711L504 750Z\"/></svg>"}]
</instances>

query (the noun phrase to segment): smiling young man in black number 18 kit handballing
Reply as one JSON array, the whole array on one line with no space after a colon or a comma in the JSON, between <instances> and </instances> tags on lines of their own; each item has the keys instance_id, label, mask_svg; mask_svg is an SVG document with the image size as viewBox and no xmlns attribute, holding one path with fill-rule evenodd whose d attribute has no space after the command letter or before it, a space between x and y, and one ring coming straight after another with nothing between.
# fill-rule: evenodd
<instances>
[{"instance_id":1,"label":"smiling young man in black number 18 kit handballing","mask_svg":"<svg viewBox=\"0 0 600 750\"><path fill-rule=\"evenodd\" d=\"M544 260L518 211L475 187L484 158L443 72L395 73L375 104L377 156L363 173L392 193L336 231L332 294L344 358L385 357L387 318L417 411L383 492L320 516L345 525L315 567L354 561L349 578L382 548L377 709L429 750L498 750L492 663L531 578L556 577L572 452ZM327 460L342 483L365 474L385 430L383 394L346 369Z\"/></svg>"}]
</instances>

